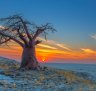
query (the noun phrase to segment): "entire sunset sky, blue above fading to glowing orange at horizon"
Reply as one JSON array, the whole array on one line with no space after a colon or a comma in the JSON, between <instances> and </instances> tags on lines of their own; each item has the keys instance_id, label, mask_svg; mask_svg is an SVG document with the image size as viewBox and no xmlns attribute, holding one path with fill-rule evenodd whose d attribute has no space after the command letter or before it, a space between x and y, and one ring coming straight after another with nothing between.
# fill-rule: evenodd
<instances>
[{"instance_id":1,"label":"entire sunset sky, blue above fading to glowing orange at horizon","mask_svg":"<svg viewBox=\"0 0 96 91\"><path fill-rule=\"evenodd\" d=\"M57 30L36 46L41 62L96 63L96 0L0 0L0 18L21 14L37 25L52 23ZM0 56L19 60L16 43L0 47Z\"/></svg>"}]
</instances>

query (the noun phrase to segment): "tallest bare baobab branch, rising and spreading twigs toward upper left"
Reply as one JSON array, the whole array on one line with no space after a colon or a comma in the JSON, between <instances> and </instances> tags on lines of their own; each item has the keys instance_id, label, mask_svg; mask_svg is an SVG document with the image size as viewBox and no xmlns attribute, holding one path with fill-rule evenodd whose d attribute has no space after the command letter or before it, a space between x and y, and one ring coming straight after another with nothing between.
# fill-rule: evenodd
<instances>
[{"instance_id":1,"label":"tallest bare baobab branch, rising and spreading twigs toward upper left","mask_svg":"<svg viewBox=\"0 0 96 91\"><path fill-rule=\"evenodd\" d=\"M1 18L0 21L5 21L6 22L6 26L10 27L10 28L14 28L17 27L18 25L21 25L22 28L24 28L23 30L25 31L27 37L29 38L29 40L32 40L32 37L28 31L27 25L31 25L31 23L29 21L25 21L22 19L21 16L19 15L13 15L13 16L9 16L7 18Z\"/></svg>"}]
</instances>

